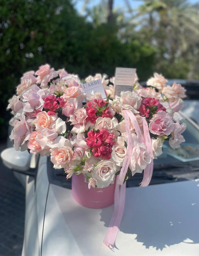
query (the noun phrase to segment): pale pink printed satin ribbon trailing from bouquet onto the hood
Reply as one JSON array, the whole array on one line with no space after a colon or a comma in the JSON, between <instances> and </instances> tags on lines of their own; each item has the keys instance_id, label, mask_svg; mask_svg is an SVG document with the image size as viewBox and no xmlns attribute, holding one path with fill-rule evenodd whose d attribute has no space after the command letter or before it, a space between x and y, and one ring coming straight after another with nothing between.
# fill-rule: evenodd
<instances>
[{"instance_id":1,"label":"pale pink printed satin ribbon trailing from bouquet onto the hood","mask_svg":"<svg viewBox=\"0 0 199 256\"><path fill-rule=\"evenodd\" d=\"M124 163L122 165L121 171L119 176L117 176L116 186L115 186L115 204L114 204L114 213L112 215L111 221L109 223L108 230L106 232L105 238L103 242L107 245L115 245L115 240L119 231L119 226L122 220L122 216L124 213L124 206L125 206L125 194L126 194L126 182L124 182L125 175L127 173L127 169L131 160L132 150L133 150L133 138L130 132L129 126L129 118L131 123L134 126L134 129L137 133L137 138L139 143L143 143L146 145L147 152L151 157L151 162L146 166L144 169L143 180L140 183L140 186L147 186L150 183L153 173L153 149L152 149L152 142L150 139L149 127L145 120L142 117L143 122L143 131L144 131L144 138L142 136L142 132L140 130L139 124L137 122L136 117L134 116L131 110L123 110L124 113L124 120L125 120L125 128L127 133L127 154L124 158ZM124 183L123 183L124 182Z\"/></svg>"}]
</instances>

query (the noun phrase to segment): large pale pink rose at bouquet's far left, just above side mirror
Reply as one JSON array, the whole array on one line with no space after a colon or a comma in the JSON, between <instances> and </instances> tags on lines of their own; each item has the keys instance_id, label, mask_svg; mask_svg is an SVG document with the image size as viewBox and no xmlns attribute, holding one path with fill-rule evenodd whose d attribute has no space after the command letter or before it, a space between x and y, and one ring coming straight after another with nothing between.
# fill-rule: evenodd
<instances>
[{"instance_id":1,"label":"large pale pink rose at bouquet's far left, just above side mirror","mask_svg":"<svg viewBox=\"0 0 199 256\"><path fill-rule=\"evenodd\" d=\"M12 123L13 130L10 134L10 140L14 140L15 150L20 150L20 147L25 146L28 140L27 136L30 134L30 127L25 119L25 115L20 116L20 120L15 120ZM25 146L25 148L27 148Z\"/></svg>"}]
</instances>

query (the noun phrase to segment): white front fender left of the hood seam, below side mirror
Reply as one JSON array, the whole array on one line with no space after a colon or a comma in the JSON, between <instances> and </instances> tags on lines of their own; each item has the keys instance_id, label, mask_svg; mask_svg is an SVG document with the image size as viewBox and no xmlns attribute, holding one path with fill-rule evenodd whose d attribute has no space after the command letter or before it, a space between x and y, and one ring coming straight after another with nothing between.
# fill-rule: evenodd
<instances>
[{"instance_id":1,"label":"white front fender left of the hood seam, below side mirror","mask_svg":"<svg viewBox=\"0 0 199 256\"><path fill-rule=\"evenodd\" d=\"M48 189L47 157L44 156L39 159L36 179L27 176L25 233L22 256L41 255L43 223Z\"/></svg>"}]
</instances>

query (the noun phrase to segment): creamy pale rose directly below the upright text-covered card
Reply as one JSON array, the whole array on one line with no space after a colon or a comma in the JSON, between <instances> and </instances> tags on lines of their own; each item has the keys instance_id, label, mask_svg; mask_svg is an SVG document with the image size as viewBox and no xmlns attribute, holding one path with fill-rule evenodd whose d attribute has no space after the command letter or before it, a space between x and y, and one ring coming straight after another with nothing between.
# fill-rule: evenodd
<instances>
[{"instance_id":1,"label":"creamy pale rose directly below the upright text-covered card","mask_svg":"<svg viewBox=\"0 0 199 256\"><path fill-rule=\"evenodd\" d=\"M136 93L130 92L130 91L125 91L125 92L123 91L121 92L120 95L121 95L120 102L122 104L130 105L136 110L140 108L142 103L142 98L138 96Z\"/></svg>"}]
</instances>

